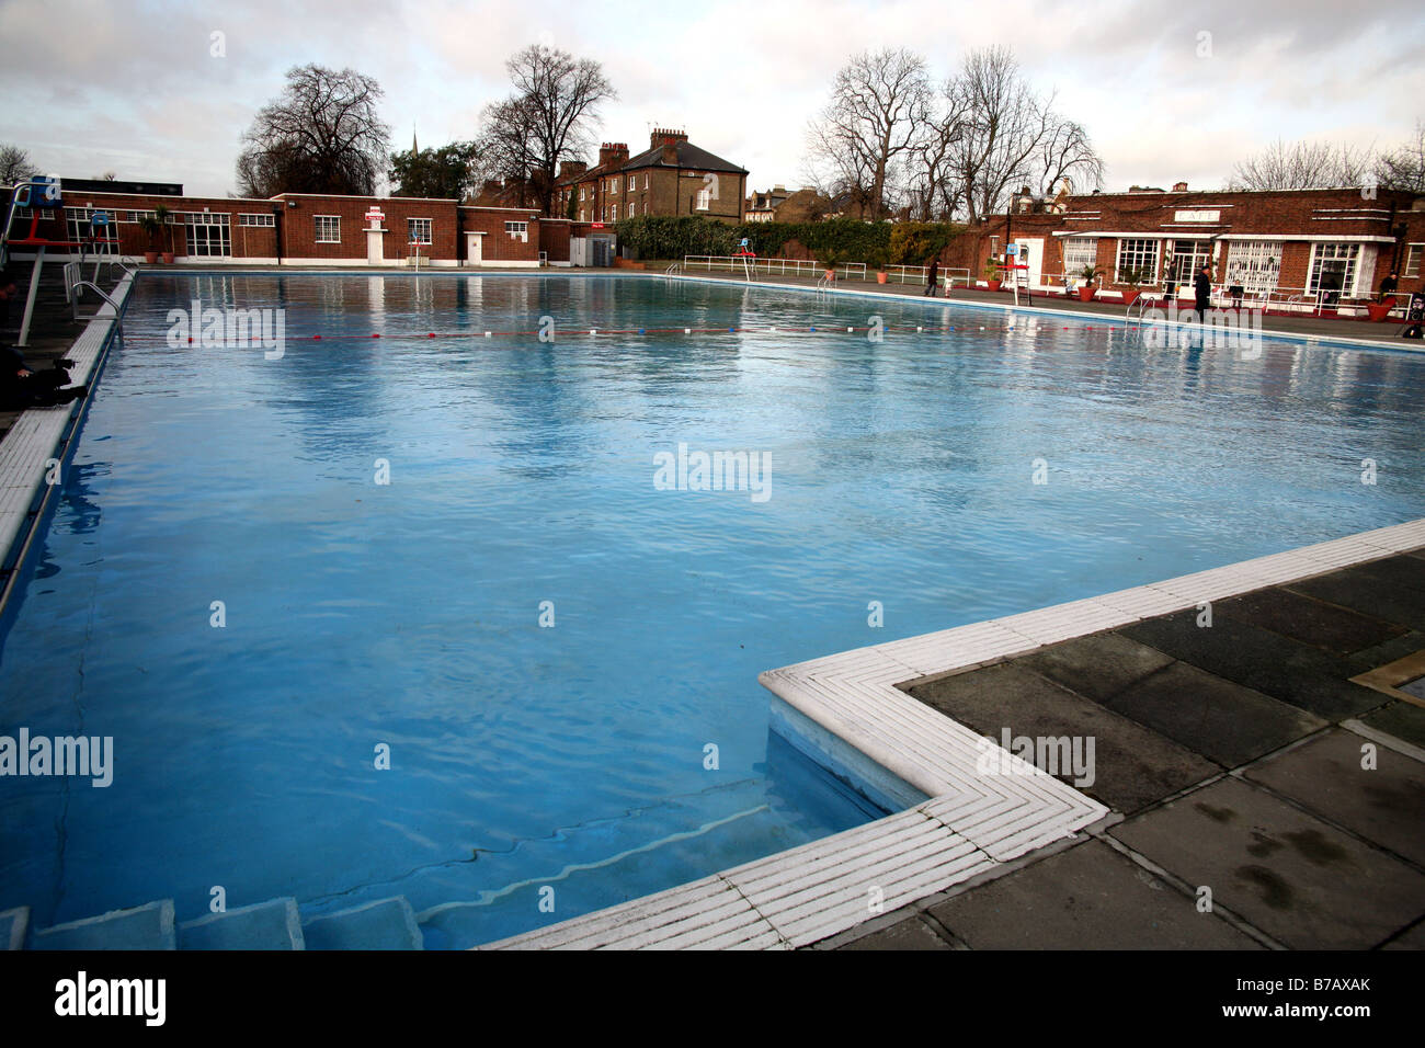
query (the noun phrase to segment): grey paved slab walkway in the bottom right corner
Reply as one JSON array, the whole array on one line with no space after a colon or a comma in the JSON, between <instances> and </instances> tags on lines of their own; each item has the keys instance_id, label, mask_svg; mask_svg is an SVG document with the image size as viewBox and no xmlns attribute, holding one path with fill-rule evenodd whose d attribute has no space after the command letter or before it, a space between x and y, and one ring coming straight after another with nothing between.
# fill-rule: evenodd
<instances>
[{"instance_id":1,"label":"grey paved slab walkway in the bottom right corner","mask_svg":"<svg viewBox=\"0 0 1425 1048\"><path fill-rule=\"evenodd\" d=\"M1114 817L818 948L1425 948L1425 549L1210 612L906 684Z\"/></svg>"}]
</instances>

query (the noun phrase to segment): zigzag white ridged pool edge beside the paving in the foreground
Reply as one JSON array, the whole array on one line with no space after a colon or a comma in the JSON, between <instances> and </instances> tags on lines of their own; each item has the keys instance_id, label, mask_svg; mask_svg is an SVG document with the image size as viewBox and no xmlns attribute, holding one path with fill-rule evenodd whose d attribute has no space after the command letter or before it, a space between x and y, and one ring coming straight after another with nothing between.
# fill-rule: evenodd
<instances>
[{"instance_id":1,"label":"zigzag white ridged pool edge beside the paving in the foreground","mask_svg":"<svg viewBox=\"0 0 1425 1048\"><path fill-rule=\"evenodd\" d=\"M895 687L1425 546L1425 518L1005 619L768 670L802 714L929 794L875 823L482 950L809 945L1073 836L1109 810ZM998 749L998 747L996 747ZM1003 753L1003 751L999 751ZM879 904L875 908L874 904Z\"/></svg>"}]
</instances>

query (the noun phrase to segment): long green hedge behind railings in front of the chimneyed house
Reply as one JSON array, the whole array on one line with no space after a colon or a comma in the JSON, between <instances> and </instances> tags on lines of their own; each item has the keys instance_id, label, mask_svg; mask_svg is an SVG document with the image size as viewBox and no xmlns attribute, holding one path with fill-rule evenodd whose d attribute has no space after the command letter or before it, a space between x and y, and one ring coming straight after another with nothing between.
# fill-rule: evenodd
<instances>
[{"instance_id":1,"label":"long green hedge behind railings in front of the chimneyed house","mask_svg":"<svg viewBox=\"0 0 1425 1048\"><path fill-rule=\"evenodd\" d=\"M845 261L866 262L885 252L892 265L923 265L965 228L943 222L862 222L828 218L824 222L748 222L730 225L688 215L640 215L614 224L620 247L640 258L730 255L742 237L762 258L779 258L788 241L797 241L815 258L836 254Z\"/></svg>"}]
</instances>

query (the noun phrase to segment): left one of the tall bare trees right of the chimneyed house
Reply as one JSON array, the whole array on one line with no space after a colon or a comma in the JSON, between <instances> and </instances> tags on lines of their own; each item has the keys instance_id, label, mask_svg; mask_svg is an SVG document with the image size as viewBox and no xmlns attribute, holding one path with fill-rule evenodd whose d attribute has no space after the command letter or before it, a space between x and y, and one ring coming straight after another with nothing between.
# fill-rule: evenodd
<instances>
[{"instance_id":1,"label":"left one of the tall bare trees right of the chimneyed house","mask_svg":"<svg viewBox=\"0 0 1425 1048\"><path fill-rule=\"evenodd\" d=\"M893 205L898 168L915 153L931 106L925 60L905 48L864 51L832 83L808 134L817 181L849 194L862 217Z\"/></svg>"}]
</instances>

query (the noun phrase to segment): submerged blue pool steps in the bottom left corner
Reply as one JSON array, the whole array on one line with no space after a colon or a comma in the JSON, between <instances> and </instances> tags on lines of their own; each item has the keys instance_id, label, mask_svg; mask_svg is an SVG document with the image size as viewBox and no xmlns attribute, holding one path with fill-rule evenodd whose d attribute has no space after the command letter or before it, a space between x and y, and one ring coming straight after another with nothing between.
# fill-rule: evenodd
<instances>
[{"instance_id":1,"label":"submerged blue pool steps in the bottom left corner","mask_svg":"<svg viewBox=\"0 0 1425 1048\"><path fill-rule=\"evenodd\" d=\"M302 921L295 898L207 914L175 924L171 898L31 930L30 908L0 913L9 950L425 950L405 895Z\"/></svg>"}]
</instances>

